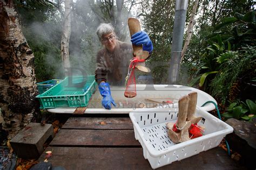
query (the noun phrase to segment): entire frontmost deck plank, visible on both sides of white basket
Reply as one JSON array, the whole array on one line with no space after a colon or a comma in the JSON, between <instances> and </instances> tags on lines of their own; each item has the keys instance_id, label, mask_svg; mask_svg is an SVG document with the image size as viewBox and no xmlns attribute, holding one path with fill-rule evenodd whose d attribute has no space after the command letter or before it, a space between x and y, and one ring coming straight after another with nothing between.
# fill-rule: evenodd
<instances>
[{"instance_id":1,"label":"entire frontmost deck plank, visible on both sides of white basket","mask_svg":"<svg viewBox=\"0 0 256 170\"><path fill-rule=\"evenodd\" d=\"M69 169L151 169L143 157L143 148L48 147L52 166ZM45 153L39 161L43 161ZM246 169L235 162L220 147L201 152L193 157L174 161L162 169Z\"/></svg>"}]
</instances>

